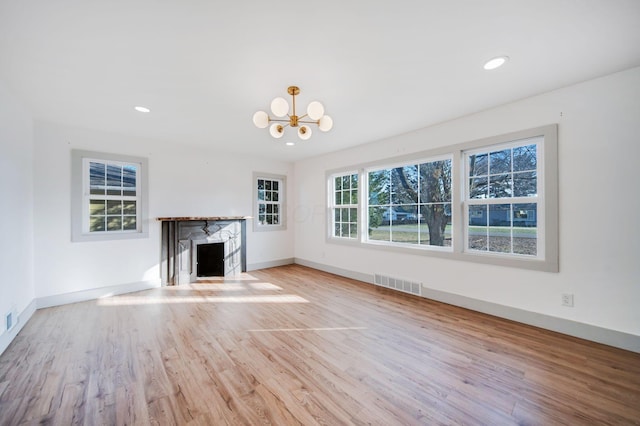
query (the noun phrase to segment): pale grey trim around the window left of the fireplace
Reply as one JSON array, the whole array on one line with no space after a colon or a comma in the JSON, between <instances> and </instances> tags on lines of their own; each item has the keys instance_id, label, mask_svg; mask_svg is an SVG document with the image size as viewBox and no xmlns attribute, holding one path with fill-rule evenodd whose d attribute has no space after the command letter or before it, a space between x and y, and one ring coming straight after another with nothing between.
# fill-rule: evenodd
<instances>
[{"instance_id":1,"label":"pale grey trim around the window left of the fireplace","mask_svg":"<svg viewBox=\"0 0 640 426\"><path fill-rule=\"evenodd\" d=\"M136 178L138 192L137 230L136 231L88 231L88 206L85 206L85 159L95 159L101 162L127 163L138 165L139 176ZM88 171L87 171L88 173ZM148 161L146 158L127 155L110 154L96 151L71 151L71 241L111 241L123 239L148 238ZM86 217L85 217L86 216Z\"/></svg>"}]
</instances>

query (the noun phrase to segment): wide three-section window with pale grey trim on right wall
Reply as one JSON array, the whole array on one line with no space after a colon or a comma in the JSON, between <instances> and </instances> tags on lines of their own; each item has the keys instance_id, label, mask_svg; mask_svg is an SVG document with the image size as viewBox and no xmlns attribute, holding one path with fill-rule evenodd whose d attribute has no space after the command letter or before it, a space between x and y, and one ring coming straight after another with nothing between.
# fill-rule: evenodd
<instances>
[{"instance_id":1,"label":"wide three-section window with pale grey trim on right wall","mask_svg":"<svg viewBox=\"0 0 640 426\"><path fill-rule=\"evenodd\" d=\"M350 169L327 173L330 242L558 270L557 125Z\"/></svg>"}]
</instances>

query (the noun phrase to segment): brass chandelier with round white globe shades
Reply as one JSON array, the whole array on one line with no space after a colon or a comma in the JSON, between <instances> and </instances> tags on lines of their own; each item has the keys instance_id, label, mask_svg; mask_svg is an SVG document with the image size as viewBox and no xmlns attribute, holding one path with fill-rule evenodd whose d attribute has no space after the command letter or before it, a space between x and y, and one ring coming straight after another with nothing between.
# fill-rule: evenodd
<instances>
[{"instance_id":1,"label":"brass chandelier with round white globe shades","mask_svg":"<svg viewBox=\"0 0 640 426\"><path fill-rule=\"evenodd\" d=\"M318 101L313 101L307 106L307 113L303 116L296 115L296 95L300 94L300 88L297 86L289 86L287 93L291 95L292 112L289 114L289 104L284 98L275 98L271 101L271 112L277 118L271 118L264 111L258 111L253 115L253 124L260 129L271 124L269 133L274 138L281 138L284 135L284 128L287 126L297 127L298 136L302 140L311 137L311 128L308 124L315 124L318 129L328 132L333 127L333 120L328 115L324 115L324 106ZM288 116L288 118L283 118Z\"/></svg>"}]
</instances>

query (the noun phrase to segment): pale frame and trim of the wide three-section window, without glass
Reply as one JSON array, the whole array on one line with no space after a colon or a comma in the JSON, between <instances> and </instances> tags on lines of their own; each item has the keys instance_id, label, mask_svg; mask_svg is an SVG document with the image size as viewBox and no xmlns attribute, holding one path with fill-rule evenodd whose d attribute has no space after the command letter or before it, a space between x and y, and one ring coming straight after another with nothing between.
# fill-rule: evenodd
<instances>
[{"instance_id":1,"label":"pale frame and trim of the wide three-section window, without glass","mask_svg":"<svg viewBox=\"0 0 640 426\"><path fill-rule=\"evenodd\" d=\"M544 253L544 258L534 256L518 256L518 255L502 255L494 252L466 251L465 250L465 229L466 215L464 214L464 153L482 148L491 148L496 145L516 142L522 139L529 139L536 136L543 136L544 141L539 147L541 152L538 153L538 221L543 224L544 235L539 240L543 245L539 250ZM442 247L434 246L400 246L393 243L380 243L378 241L365 241L364 235L366 231L366 221L363 217L363 211L367 205L367 174L368 170L381 169L390 167L394 164L419 163L422 159L438 158L438 156L450 156L452 159L452 194L451 194L451 221L452 229L452 250L443 250ZM331 230L331 204L327 203L326 221L326 240L332 244L344 244L357 246L361 248L370 248L383 250L387 252L405 253L413 255L425 255L440 257L444 259L463 260L469 262L485 263L499 266L508 266L522 269L531 269L546 272L558 272L559 270L559 248L558 248L558 125L551 124L533 129L522 130L518 132L508 133L499 136L493 136L475 141L464 142L451 146L444 146L437 149L418 152L415 154L404 155L386 160L376 161L356 166L348 166L341 169L328 170L325 174L327 183L330 182L331 176L347 173L348 171L358 170L360 174L360 193L359 193L359 223L360 238L358 240L334 238ZM329 184L325 186L328 197L332 196ZM541 195L543 194L543 195ZM511 202L511 201L509 201ZM540 222L542 221L542 222Z\"/></svg>"}]
</instances>

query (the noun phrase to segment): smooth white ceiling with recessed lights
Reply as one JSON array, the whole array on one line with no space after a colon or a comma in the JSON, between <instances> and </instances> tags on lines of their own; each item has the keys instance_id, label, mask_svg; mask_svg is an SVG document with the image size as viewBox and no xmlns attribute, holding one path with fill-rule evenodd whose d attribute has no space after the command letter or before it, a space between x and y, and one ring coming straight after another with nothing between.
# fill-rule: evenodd
<instances>
[{"instance_id":1,"label":"smooth white ceiling with recessed lights","mask_svg":"<svg viewBox=\"0 0 640 426\"><path fill-rule=\"evenodd\" d=\"M639 65L640 0L0 0L34 117L290 161ZM293 84L334 128L286 147L251 119Z\"/></svg>"}]
</instances>

